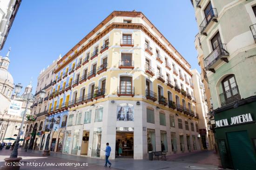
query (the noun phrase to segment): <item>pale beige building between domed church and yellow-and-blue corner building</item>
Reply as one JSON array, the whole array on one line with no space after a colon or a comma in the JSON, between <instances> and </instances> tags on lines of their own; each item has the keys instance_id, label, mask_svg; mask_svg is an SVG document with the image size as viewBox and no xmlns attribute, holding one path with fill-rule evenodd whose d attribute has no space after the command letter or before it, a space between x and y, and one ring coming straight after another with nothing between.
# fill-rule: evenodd
<instances>
[{"instance_id":1,"label":"pale beige building between domed church and yellow-and-blue corner building","mask_svg":"<svg viewBox=\"0 0 256 170\"><path fill-rule=\"evenodd\" d=\"M32 106L32 115L36 115L34 122L27 122L25 131L25 148L33 150L42 150L44 143L41 143L41 139L44 141L45 121L48 113L48 99L52 90L52 83L54 81L54 69L57 66L57 60L47 67L42 69L40 75L37 77L37 87L35 91L35 97L39 99L40 91L45 90L45 98L41 101L34 101ZM41 145L40 145L41 144Z\"/></svg>"}]
</instances>

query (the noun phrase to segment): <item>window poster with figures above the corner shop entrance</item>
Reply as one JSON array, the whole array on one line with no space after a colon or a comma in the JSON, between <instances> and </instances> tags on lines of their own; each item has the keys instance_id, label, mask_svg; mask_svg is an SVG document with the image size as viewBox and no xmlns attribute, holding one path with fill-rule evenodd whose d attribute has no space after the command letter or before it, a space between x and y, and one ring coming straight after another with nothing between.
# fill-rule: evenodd
<instances>
[{"instance_id":1,"label":"window poster with figures above the corner shop entrance","mask_svg":"<svg viewBox=\"0 0 256 170\"><path fill-rule=\"evenodd\" d=\"M118 106L117 107L117 121L134 121L134 107L133 106Z\"/></svg>"}]
</instances>

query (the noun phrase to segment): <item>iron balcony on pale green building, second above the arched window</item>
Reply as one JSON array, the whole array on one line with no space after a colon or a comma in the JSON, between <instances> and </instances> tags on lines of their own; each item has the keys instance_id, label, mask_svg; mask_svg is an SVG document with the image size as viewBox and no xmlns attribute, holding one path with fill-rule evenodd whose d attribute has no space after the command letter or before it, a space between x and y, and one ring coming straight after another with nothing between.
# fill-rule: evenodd
<instances>
[{"instance_id":1,"label":"iron balcony on pale green building, second above the arched window","mask_svg":"<svg viewBox=\"0 0 256 170\"><path fill-rule=\"evenodd\" d=\"M213 21L218 22L217 18L218 18L218 13L216 8L211 8L199 26L201 35L207 36L209 25L212 25Z\"/></svg>"}]
</instances>

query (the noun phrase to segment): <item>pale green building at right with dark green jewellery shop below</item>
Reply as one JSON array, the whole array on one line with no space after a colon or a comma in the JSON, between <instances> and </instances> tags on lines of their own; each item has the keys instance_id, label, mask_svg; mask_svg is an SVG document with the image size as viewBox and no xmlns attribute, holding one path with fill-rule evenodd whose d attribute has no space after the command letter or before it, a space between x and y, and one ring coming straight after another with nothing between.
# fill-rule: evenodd
<instances>
[{"instance_id":1,"label":"pale green building at right with dark green jewellery shop below","mask_svg":"<svg viewBox=\"0 0 256 170\"><path fill-rule=\"evenodd\" d=\"M256 0L191 2L222 166L256 169Z\"/></svg>"}]
</instances>

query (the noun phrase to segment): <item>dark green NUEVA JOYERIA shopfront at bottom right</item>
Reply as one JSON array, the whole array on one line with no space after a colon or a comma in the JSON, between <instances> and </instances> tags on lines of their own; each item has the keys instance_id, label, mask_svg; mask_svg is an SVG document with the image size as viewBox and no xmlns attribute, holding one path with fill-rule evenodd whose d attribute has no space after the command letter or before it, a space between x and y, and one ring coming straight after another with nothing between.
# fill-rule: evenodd
<instances>
[{"instance_id":1,"label":"dark green NUEVA JOYERIA shopfront at bottom right","mask_svg":"<svg viewBox=\"0 0 256 170\"><path fill-rule=\"evenodd\" d=\"M256 96L215 110L223 168L256 170Z\"/></svg>"}]
</instances>

